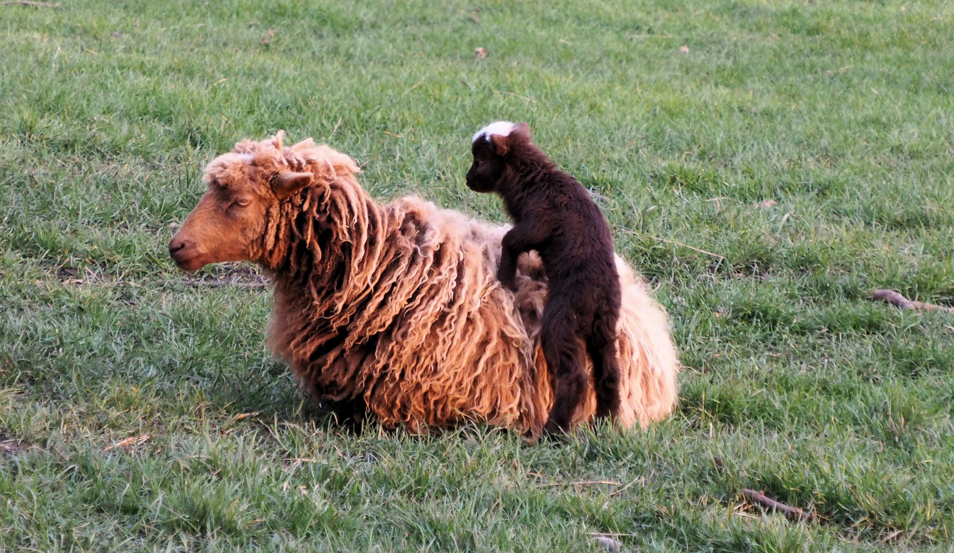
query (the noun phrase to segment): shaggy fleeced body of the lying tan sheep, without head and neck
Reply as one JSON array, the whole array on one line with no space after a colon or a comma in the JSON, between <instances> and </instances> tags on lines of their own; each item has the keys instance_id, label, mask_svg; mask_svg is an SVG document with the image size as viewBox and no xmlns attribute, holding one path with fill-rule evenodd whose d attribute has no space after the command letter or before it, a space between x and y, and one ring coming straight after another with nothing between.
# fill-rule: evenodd
<instances>
[{"instance_id":1,"label":"shaggy fleeced body of the lying tan sheep, without head and neck","mask_svg":"<svg viewBox=\"0 0 954 553\"><path fill-rule=\"evenodd\" d=\"M363 191L345 192L350 197L331 200L352 208L337 210L351 231L335 293L276 287L269 343L302 389L329 402L363 401L388 427L422 432L482 420L538 435L552 403L539 339L546 302L539 257L521 257L512 293L496 278L508 227L417 197L378 206ZM616 265L618 421L645 425L673 410L678 363L665 313L619 256ZM575 421L594 410L590 389Z\"/></svg>"}]
</instances>

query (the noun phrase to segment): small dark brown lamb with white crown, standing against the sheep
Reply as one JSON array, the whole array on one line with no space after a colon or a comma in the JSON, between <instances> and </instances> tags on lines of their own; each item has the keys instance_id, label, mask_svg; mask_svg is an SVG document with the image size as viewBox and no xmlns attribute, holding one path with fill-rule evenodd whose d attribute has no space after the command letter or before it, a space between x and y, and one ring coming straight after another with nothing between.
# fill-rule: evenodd
<instances>
[{"instance_id":1,"label":"small dark brown lamb with white crown, standing against the sheep","mask_svg":"<svg viewBox=\"0 0 954 553\"><path fill-rule=\"evenodd\" d=\"M596 417L615 417L621 292L609 224L583 186L533 144L527 123L491 123L474 134L471 151L467 187L500 195L513 219L497 277L513 289L517 256L530 250L539 252L548 276L541 342L554 401L544 430L570 429L590 380L584 350L592 361Z\"/></svg>"}]
</instances>

